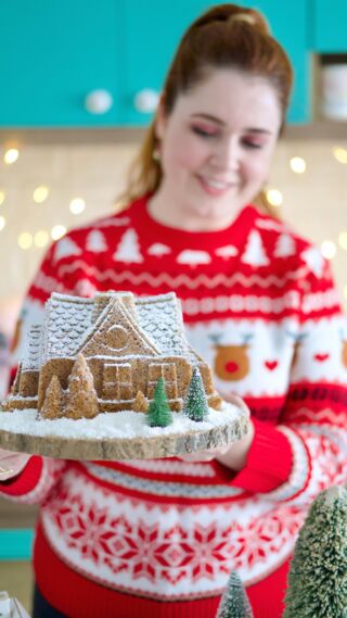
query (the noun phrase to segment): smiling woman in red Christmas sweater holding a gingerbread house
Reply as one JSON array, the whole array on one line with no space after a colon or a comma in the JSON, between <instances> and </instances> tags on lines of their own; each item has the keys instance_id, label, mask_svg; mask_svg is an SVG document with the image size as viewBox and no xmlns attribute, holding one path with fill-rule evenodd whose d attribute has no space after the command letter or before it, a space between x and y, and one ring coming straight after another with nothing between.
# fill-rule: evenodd
<instances>
[{"instance_id":1,"label":"smiling woman in red Christmas sweater holding a gingerbread house","mask_svg":"<svg viewBox=\"0 0 347 618\"><path fill-rule=\"evenodd\" d=\"M42 503L35 618L213 617L231 569L256 618L282 615L308 505L346 477L343 317L329 266L254 205L291 85L259 13L223 4L198 18L126 210L55 243L29 289L27 321L53 290L175 290L217 389L252 412L242 441L193 461L22 456L18 472L12 458L2 493Z\"/></svg>"}]
</instances>

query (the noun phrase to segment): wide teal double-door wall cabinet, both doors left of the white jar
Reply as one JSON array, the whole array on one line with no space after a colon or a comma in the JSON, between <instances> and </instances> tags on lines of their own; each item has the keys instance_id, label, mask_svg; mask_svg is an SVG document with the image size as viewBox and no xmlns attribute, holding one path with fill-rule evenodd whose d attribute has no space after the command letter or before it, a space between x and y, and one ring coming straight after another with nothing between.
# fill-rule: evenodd
<instances>
[{"instance_id":1,"label":"wide teal double-door wall cabinet, both doors left of the white jar","mask_svg":"<svg viewBox=\"0 0 347 618\"><path fill-rule=\"evenodd\" d=\"M309 119L307 3L241 0L259 8L295 67L288 119ZM116 127L149 123L177 45L208 0L0 2L1 127ZM86 98L106 91L101 114ZM107 103L107 101L106 101Z\"/></svg>"}]
</instances>

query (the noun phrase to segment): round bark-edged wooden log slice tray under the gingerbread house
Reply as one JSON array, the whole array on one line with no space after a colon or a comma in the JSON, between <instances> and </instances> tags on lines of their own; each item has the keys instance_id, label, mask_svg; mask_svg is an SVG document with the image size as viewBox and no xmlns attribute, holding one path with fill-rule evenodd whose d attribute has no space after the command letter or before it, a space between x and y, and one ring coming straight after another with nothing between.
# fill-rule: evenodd
<instances>
[{"instance_id":1,"label":"round bark-edged wooden log slice tray under the gingerbread house","mask_svg":"<svg viewBox=\"0 0 347 618\"><path fill-rule=\"evenodd\" d=\"M30 413L31 425L25 430L26 415ZM106 414L115 417L124 413ZM128 412L128 416L139 413ZM14 416L22 415L23 424L21 431L17 427L13 430ZM156 429L153 436L120 437L93 437L86 431L86 424L92 420L64 419L66 424L74 424L74 430L80 429L80 436L65 437L57 434L53 424L60 420L33 420L36 411L15 411L3 413L0 409L0 447L20 453L46 455L54 458L79 459L79 461L116 461L116 459L153 459L159 457L180 456L197 451L209 449L223 449L243 438L249 424L249 411L239 398L233 404L224 403L221 411L210 411L211 421L194 422L187 420L189 428L176 431L175 422L164 430ZM100 415L104 416L104 415ZM141 414L145 417L145 415ZM177 417L182 417L179 413ZM21 417L21 418L22 418ZM145 424L145 419L143 421ZM183 421L185 422L185 420ZM37 424L35 432L30 433L30 427ZM39 425L44 424L44 432L40 434ZM80 424L79 426L76 424ZM23 426L23 430L22 430ZM65 427L68 427L66 425ZM69 427L72 427L69 425ZM41 425L43 428L43 425ZM183 427L184 429L184 427ZM60 431L64 432L64 428ZM146 427L146 432L151 428Z\"/></svg>"}]
</instances>

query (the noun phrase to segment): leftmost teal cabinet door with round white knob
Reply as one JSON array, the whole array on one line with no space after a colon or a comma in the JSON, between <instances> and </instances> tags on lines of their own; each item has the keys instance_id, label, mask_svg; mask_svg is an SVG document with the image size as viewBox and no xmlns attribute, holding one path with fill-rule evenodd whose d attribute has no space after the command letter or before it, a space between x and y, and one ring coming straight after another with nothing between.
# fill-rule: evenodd
<instances>
[{"instance_id":1,"label":"leftmost teal cabinet door with round white knob","mask_svg":"<svg viewBox=\"0 0 347 618\"><path fill-rule=\"evenodd\" d=\"M0 3L0 125L102 126L118 121L115 0ZM108 90L114 105L90 114L86 96Z\"/></svg>"}]
</instances>

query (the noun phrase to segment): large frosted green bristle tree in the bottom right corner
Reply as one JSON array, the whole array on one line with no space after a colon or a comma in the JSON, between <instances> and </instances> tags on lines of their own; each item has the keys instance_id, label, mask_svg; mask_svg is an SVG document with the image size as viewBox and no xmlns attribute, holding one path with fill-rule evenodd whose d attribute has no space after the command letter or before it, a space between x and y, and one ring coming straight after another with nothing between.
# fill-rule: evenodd
<instances>
[{"instance_id":1,"label":"large frosted green bristle tree in the bottom right corner","mask_svg":"<svg viewBox=\"0 0 347 618\"><path fill-rule=\"evenodd\" d=\"M347 491L333 487L313 502L299 531L284 618L347 618Z\"/></svg>"}]
</instances>

